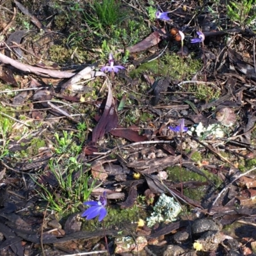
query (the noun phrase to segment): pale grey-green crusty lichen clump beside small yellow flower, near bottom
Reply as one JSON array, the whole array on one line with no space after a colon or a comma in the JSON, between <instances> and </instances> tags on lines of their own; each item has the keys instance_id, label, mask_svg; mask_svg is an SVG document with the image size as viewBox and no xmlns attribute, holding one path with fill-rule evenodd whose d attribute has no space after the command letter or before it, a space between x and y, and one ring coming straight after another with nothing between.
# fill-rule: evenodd
<instances>
[{"instance_id":1,"label":"pale grey-green crusty lichen clump beside small yellow flower, near bottom","mask_svg":"<svg viewBox=\"0 0 256 256\"><path fill-rule=\"evenodd\" d=\"M159 222L175 221L182 210L179 203L165 194L161 194L153 209L154 212L152 212L151 217L147 218L148 227L152 227Z\"/></svg>"}]
</instances>

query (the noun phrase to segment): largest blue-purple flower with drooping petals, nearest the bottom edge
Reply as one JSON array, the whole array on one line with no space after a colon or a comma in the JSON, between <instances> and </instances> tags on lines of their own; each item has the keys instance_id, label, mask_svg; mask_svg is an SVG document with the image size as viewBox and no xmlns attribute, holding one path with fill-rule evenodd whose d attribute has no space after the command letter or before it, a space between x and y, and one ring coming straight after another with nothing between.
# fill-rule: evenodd
<instances>
[{"instance_id":1,"label":"largest blue-purple flower with drooping petals, nearest the bottom edge","mask_svg":"<svg viewBox=\"0 0 256 256\"><path fill-rule=\"evenodd\" d=\"M106 191L103 192L103 196L100 196L99 201L89 201L84 202L84 205L91 205L86 211L83 212L81 215L82 217L86 217L86 220L92 220L96 216L99 215L99 221L102 221L106 215L106 205L107 205L107 198L106 198Z\"/></svg>"}]
</instances>

